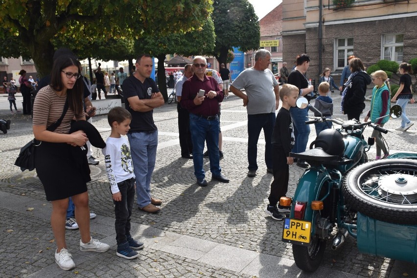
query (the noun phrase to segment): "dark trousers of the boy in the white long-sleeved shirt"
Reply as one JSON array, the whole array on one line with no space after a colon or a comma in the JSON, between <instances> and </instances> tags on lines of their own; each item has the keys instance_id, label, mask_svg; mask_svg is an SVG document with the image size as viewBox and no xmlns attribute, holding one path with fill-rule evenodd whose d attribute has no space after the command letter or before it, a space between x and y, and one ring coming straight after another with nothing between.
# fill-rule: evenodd
<instances>
[{"instance_id":1,"label":"dark trousers of the boy in the white long-sleeved shirt","mask_svg":"<svg viewBox=\"0 0 417 278\"><path fill-rule=\"evenodd\" d=\"M133 202L135 199L135 179L125 180L117 184L122 197L115 204L115 229L117 245L127 242L130 235L130 217L132 215Z\"/></svg>"}]
</instances>

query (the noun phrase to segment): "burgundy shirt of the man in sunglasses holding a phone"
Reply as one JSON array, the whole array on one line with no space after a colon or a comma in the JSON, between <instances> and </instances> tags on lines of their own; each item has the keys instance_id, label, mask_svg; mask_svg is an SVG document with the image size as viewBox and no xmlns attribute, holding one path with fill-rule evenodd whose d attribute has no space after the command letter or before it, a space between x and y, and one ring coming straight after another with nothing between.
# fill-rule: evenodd
<instances>
[{"instance_id":1,"label":"burgundy shirt of the man in sunglasses holding a phone","mask_svg":"<svg viewBox=\"0 0 417 278\"><path fill-rule=\"evenodd\" d=\"M217 92L217 95L212 99L207 96L201 105L194 104L194 98L198 91L204 90ZM183 84L183 92L181 96L181 106L187 109L190 113L198 116L214 116L219 113L219 102L224 98L223 91L220 90L216 80L211 76L204 75L204 80L201 81L195 74L186 80Z\"/></svg>"}]
</instances>

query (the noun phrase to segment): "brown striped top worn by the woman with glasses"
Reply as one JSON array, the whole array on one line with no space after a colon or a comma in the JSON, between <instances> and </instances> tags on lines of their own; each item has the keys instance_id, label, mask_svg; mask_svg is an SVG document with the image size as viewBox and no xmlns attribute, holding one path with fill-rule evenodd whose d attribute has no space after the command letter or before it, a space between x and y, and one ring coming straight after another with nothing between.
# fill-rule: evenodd
<instances>
[{"instance_id":1,"label":"brown striped top worn by the woman with glasses","mask_svg":"<svg viewBox=\"0 0 417 278\"><path fill-rule=\"evenodd\" d=\"M66 99L67 97L58 96L50 86L39 90L33 104L33 125L48 127L56 122L62 115ZM77 120L80 120L83 118L84 113L75 115L74 111L68 107L67 114L54 132L68 134L71 128L71 119L74 116L76 116Z\"/></svg>"}]
</instances>

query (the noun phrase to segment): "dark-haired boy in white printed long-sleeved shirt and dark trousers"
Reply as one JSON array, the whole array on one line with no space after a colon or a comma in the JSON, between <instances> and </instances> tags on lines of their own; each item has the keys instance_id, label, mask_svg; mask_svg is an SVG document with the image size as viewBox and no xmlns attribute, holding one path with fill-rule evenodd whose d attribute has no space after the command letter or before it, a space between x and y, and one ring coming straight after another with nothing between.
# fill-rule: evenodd
<instances>
[{"instance_id":1,"label":"dark-haired boy in white printed long-sleeved shirt and dark trousers","mask_svg":"<svg viewBox=\"0 0 417 278\"><path fill-rule=\"evenodd\" d=\"M134 240L130 234L130 218L136 193L135 174L129 143L122 137L130 129L132 115L126 109L116 106L109 111L107 119L112 132L102 152L115 204L116 255L133 259L139 254L132 249L142 249L143 243Z\"/></svg>"}]
</instances>

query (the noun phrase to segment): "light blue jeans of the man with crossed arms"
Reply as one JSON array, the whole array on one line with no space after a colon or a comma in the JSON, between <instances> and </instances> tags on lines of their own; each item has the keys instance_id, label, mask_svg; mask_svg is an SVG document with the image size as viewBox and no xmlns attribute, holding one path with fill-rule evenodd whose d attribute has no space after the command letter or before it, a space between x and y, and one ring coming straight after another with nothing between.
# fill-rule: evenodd
<instances>
[{"instance_id":1,"label":"light blue jeans of the man with crossed arms","mask_svg":"<svg viewBox=\"0 0 417 278\"><path fill-rule=\"evenodd\" d=\"M136 176L136 195L139 208L151 203L151 176L155 168L158 130L127 134Z\"/></svg>"}]
</instances>

